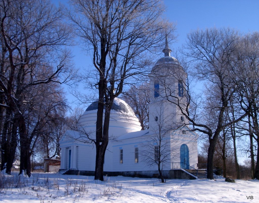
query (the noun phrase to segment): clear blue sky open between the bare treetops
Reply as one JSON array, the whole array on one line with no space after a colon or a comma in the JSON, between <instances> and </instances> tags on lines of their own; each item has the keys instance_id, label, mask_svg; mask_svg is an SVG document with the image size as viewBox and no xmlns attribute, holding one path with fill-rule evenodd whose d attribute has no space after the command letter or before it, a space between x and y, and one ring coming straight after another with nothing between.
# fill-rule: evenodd
<instances>
[{"instance_id":1,"label":"clear blue sky open between the bare treetops","mask_svg":"<svg viewBox=\"0 0 259 203\"><path fill-rule=\"evenodd\" d=\"M67 0L51 0L58 5ZM169 44L177 49L191 30L230 27L241 33L259 31L259 0L164 0L165 18L176 22L177 42ZM68 4L66 4L68 5ZM162 50L162 49L161 49ZM79 46L72 48L74 63L77 68L88 69L91 58ZM85 91L82 89L82 91ZM69 102L73 96L68 94ZM74 106L74 105L73 105Z\"/></svg>"}]
</instances>

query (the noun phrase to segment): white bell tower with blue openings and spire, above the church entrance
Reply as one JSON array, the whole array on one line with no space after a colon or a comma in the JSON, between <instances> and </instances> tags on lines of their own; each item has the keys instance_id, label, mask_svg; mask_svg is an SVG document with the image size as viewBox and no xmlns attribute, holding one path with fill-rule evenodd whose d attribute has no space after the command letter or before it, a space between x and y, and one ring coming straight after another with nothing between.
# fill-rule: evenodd
<instances>
[{"instance_id":1,"label":"white bell tower with blue openings and spire, above the church entrance","mask_svg":"<svg viewBox=\"0 0 259 203\"><path fill-rule=\"evenodd\" d=\"M164 57L160 58L151 73L149 130L158 133L162 129L175 129L187 123L178 106L186 109L186 73L178 60L170 56L166 36Z\"/></svg>"}]
</instances>

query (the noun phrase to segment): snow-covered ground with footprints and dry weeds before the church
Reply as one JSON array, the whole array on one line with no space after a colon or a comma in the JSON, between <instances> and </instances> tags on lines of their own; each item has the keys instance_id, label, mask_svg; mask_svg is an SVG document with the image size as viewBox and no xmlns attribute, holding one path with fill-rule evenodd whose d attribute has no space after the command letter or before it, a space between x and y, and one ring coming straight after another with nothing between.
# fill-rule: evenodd
<instances>
[{"instance_id":1,"label":"snow-covered ground with footprints and dry weeds before the church","mask_svg":"<svg viewBox=\"0 0 259 203\"><path fill-rule=\"evenodd\" d=\"M259 180L159 179L32 173L31 178L0 173L0 202L258 202ZM248 199L249 198L249 199Z\"/></svg>"}]
</instances>

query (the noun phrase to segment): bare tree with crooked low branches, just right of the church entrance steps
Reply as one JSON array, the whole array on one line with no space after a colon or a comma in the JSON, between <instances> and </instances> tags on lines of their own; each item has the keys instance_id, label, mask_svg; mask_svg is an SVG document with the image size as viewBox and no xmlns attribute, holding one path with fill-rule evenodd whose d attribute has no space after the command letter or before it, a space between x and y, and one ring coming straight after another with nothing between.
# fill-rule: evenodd
<instances>
[{"instance_id":1,"label":"bare tree with crooked low branches, just right of the church entrance steps","mask_svg":"<svg viewBox=\"0 0 259 203\"><path fill-rule=\"evenodd\" d=\"M170 86L165 86L164 90L166 92L164 98L176 105L189 121L185 125L188 125L191 131L204 133L208 137L208 179L213 179L213 156L219 134L225 127L246 116L244 113L235 120L224 122L224 113L229 101L237 91L229 70L232 70L232 56L237 49L238 39L238 33L228 28L197 30L188 35L185 55L193 60L197 77L206 81L204 106L201 106L202 100L191 97L189 80L182 81L183 85L180 86L183 89L182 99L178 97L177 90L172 90Z\"/></svg>"}]
</instances>

